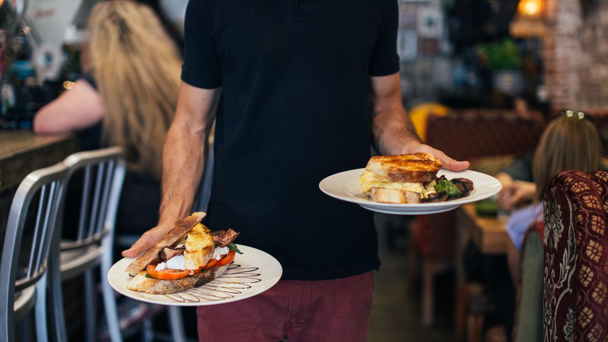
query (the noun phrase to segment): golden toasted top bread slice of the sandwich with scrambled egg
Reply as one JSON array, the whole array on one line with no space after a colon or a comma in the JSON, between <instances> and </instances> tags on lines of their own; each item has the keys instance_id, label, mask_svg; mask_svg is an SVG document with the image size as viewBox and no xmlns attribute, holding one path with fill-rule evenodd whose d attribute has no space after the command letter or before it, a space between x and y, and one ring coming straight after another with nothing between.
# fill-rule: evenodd
<instances>
[{"instance_id":1,"label":"golden toasted top bread slice of the sandwich with scrambled egg","mask_svg":"<svg viewBox=\"0 0 608 342\"><path fill-rule=\"evenodd\" d=\"M439 158L431 153L410 153L373 156L365 169L393 182L427 183L435 179L441 166Z\"/></svg>"}]
</instances>

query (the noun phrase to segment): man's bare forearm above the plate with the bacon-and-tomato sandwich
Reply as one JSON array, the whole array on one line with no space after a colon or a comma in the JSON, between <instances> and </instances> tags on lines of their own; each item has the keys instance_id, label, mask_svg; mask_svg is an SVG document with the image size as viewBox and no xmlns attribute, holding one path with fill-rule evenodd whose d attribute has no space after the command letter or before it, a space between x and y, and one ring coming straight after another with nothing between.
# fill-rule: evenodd
<instances>
[{"instance_id":1,"label":"man's bare forearm above the plate with the bacon-and-tomato sandwich","mask_svg":"<svg viewBox=\"0 0 608 342\"><path fill-rule=\"evenodd\" d=\"M171 125L162 155L159 225L174 226L192 211L207 155L209 129Z\"/></svg>"}]
</instances>

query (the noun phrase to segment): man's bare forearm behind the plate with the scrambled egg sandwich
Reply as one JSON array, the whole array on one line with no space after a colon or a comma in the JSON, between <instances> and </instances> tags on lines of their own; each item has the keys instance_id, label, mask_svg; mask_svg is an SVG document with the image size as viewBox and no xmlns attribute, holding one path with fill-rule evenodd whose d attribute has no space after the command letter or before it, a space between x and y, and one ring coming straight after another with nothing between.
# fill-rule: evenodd
<instances>
[{"instance_id":1,"label":"man's bare forearm behind the plate with the scrambled egg sandwich","mask_svg":"<svg viewBox=\"0 0 608 342\"><path fill-rule=\"evenodd\" d=\"M410 145L420 144L420 138L403 107L376 111L371 123L374 144L379 152L398 155L410 150Z\"/></svg>"}]
</instances>

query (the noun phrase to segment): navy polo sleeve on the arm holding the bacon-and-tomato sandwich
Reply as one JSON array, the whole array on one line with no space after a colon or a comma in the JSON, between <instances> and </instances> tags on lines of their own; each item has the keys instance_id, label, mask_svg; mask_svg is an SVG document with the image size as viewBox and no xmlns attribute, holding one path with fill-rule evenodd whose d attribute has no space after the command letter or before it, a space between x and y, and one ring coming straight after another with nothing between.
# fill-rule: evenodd
<instances>
[{"instance_id":1,"label":"navy polo sleeve on the arm holding the bacon-and-tomato sandwich","mask_svg":"<svg viewBox=\"0 0 608 342\"><path fill-rule=\"evenodd\" d=\"M188 1L184 22L182 81L197 88L221 85L219 57L200 0Z\"/></svg>"}]
</instances>

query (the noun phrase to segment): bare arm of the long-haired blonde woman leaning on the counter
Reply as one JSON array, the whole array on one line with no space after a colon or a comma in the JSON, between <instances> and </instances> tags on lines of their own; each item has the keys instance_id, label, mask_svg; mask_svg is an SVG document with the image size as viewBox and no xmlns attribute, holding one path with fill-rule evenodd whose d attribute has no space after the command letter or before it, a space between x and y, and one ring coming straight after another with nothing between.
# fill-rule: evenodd
<instances>
[{"instance_id":1,"label":"bare arm of the long-haired blonde woman leaning on the counter","mask_svg":"<svg viewBox=\"0 0 608 342\"><path fill-rule=\"evenodd\" d=\"M63 133L91 127L103 117L99 93L85 80L48 103L36 113L33 128L36 133Z\"/></svg>"}]
</instances>

